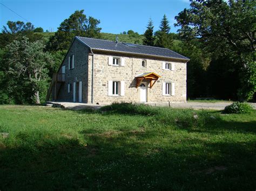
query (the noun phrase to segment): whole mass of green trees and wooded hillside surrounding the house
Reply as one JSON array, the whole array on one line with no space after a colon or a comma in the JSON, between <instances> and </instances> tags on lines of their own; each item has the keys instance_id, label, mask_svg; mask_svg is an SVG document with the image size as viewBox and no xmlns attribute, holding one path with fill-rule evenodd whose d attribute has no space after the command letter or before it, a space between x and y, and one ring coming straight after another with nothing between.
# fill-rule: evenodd
<instances>
[{"instance_id":1,"label":"whole mass of green trees and wooded hillside surrounding the house","mask_svg":"<svg viewBox=\"0 0 256 191\"><path fill-rule=\"evenodd\" d=\"M77 10L54 33L32 23L9 21L0 33L0 104L45 102L52 74L75 36L169 48L190 58L187 98L255 101L255 1L192 1L171 33L163 13L159 30L151 19L144 34L102 33L100 20Z\"/></svg>"}]
</instances>

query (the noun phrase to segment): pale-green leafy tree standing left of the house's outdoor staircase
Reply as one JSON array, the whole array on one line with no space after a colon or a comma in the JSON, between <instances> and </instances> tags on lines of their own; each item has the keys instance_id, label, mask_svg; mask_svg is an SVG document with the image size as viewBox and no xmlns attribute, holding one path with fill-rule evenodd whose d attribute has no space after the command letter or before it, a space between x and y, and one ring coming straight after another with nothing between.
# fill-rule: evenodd
<instances>
[{"instance_id":1,"label":"pale-green leafy tree standing left of the house's outdoor staircase","mask_svg":"<svg viewBox=\"0 0 256 191\"><path fill-rule=\"evenodd\" d=\"M6 74L16 82L23 82L23 86L17 86L13 91L25 89L23 96L26 100L32 98L32 102L37 104L41 103L39 93L45 93L48 86L46 66L52 65L51 55L43 50L42 41L31 43L26 37L6 46Z\"/></svg>"}]
</instances>

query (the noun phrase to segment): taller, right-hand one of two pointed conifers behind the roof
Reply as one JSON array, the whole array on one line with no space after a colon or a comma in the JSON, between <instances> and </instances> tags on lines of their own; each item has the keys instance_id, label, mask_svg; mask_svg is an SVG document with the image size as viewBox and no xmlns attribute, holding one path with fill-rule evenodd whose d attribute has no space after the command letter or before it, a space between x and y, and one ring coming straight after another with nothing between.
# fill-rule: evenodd
<instances>
[{"instance_id":1,"label":"taller, right-hand one of two pointed conifers behind the roof","mask_svg":"<svg viewBox=\"0 0 256 191\"><path fill-rule=\"evenodd\" d=\"M170 34L171 27L169 26L169 21L166 18L166 15L164 15L163 19L160 23L160 31L157 31L155 33L156 35L156 46L163 47L163 48L172 48L173 45L173 39L172 34Z\"/></svg>"}]
</instances>

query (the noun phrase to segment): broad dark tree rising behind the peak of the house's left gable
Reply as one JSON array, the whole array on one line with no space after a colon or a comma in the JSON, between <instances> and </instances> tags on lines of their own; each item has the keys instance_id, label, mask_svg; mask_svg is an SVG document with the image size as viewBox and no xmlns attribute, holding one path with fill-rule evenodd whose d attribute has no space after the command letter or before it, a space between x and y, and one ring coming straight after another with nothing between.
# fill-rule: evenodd
<instances>
[{"instance_id":1,"label":"broad dark tree rising behind the peak of the house's left gable","mask_svg":"<svg viewBox=\"0 0 256 191\"><path fill-rule=\"evenodd\" d=\"M51 51L66 50L75 36L99 38L99 23L100 21L93 17L87 19L84 10L75 11L60 24L55 36L50 38L47 48Z\"/></svg>"}]
</instances>

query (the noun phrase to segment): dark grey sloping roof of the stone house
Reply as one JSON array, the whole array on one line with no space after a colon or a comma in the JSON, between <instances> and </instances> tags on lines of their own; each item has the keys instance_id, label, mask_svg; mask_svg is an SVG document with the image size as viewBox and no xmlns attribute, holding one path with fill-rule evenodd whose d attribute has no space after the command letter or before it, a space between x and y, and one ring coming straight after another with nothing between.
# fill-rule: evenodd
<instances>
[{"instance_id":1,"label":"dark grey sloping roof of the stone house","mask_svg":"<svg viewBox=\"0 0 256 191\"><path fill-rule=\"evenodd\" d=\"M87 37L76 37L76 39L78 39L80 42L85 44L87 47L96 49L96 50L189 60L185 56L180 55L176 52L173 52L167 48L137 45L137 44L131 44L131 43L120 43L120 42L116 43L115 41L87 38Z\"/></svg>"}]
</instances>

